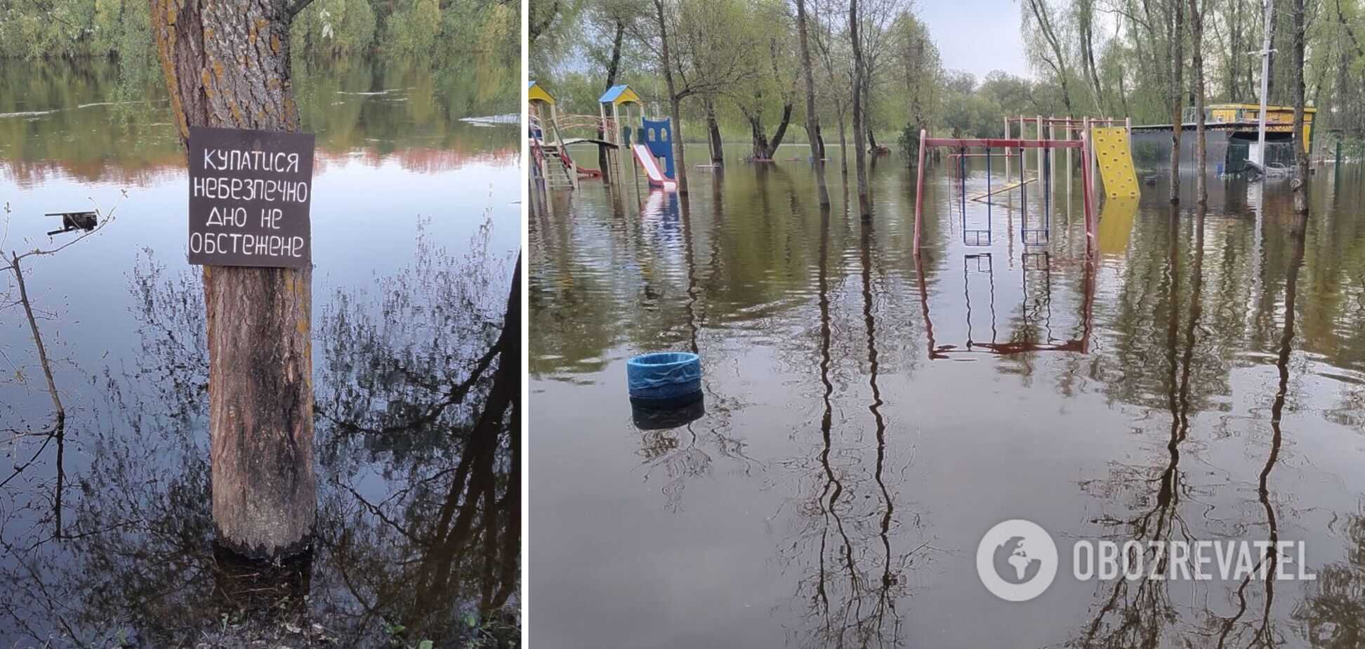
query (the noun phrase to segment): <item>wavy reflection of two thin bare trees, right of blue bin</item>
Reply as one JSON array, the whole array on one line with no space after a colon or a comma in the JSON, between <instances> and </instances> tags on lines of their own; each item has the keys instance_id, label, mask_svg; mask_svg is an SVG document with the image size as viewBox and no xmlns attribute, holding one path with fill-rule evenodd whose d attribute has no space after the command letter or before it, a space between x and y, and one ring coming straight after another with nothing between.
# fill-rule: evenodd
<instances>
[{"instance_id":1,"label":"wavy reflection of two thin bare trees, right of blue bin","mask_svg":"<svg viewBox=\"0 0 1365 649\"><path fill-rule=\"evenodd\" d=\"M788 629L789 642L800 646L901 646L906 629L897 604L909 592L908 571L927 560L927 544L912 545L919 519L898 510L905 458L889 448L887 419L879 384L882 368L872 288L872 224L860 228L861 320L868 385L867 415L872 421L871 445L852 428L835 422L837 355L830 299L830 213L820 215L816 264L819 305L819 417L818 450L812 456L784 462L794 481L788 500L790 523L779 548L782 560L797 566L792 605L797 620ZM904 503L902 503L904 507Z\"/></svg>"}]
</instances>

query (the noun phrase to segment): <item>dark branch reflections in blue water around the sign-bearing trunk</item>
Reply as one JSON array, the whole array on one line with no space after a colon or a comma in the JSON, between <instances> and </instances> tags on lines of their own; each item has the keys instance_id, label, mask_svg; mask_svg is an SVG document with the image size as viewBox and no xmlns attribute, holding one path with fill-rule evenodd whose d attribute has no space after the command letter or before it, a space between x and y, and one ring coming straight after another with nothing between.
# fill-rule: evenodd
<instances>
[{"instance_id":1,"label":"dark branch reflections in blue water around the sign-bearing trunk","mask_svg":"<svg viewBox=\"0 0 1365 649\"><path fill-rule=\"evenodd\" d=\"M130 273L139 348L90 376L98 399L72 417L66 456L59 443L0 488L5 639L355 646L400 626L414 645L515 639L519 272L486 246L485 234L455 257L419 238L410 265L375 277L384 294L337 291L321 309L328 480L315 551L266 571L210 544L198 280L141 256ZM369 369L389 372L367 383ZM411 413L435 414L400 421Z\"/></svg>"}]
</instances>

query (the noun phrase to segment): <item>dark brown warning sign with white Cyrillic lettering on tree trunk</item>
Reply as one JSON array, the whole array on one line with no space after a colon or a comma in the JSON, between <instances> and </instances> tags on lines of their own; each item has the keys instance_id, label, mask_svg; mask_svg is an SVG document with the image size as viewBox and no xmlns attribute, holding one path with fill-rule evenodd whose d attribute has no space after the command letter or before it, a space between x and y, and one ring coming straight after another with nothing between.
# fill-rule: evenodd
<instances>
[{"instance_id":1,"label":"dark brown warning sign with white Cyrillic lettering on tree trunk","mask_svg":"<svg viewBox=\"0 0 1365 649\"><path fill-rule=\"evenodd\" d=\"M311 264L311 133L190 128L190 264Z\"/></svg>"}]
</instances>

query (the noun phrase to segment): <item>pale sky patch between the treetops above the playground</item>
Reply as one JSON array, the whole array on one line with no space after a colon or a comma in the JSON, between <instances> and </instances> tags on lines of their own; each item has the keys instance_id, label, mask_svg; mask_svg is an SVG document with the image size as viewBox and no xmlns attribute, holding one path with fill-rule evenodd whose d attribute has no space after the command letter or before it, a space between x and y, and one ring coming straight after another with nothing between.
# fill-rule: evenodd
<instances>
[{"instance_id":1,"label":"pale sky patch between the treetops above the playground","mask_svg":"<svg viewBox=\"0 0 1365 649\"><path fill-rule=\"evenodd\" d=\"M1032 77L1024 60L1018 0L919 0L946 70L980 81L991 70Z\"/></svg>"}]
</instances>

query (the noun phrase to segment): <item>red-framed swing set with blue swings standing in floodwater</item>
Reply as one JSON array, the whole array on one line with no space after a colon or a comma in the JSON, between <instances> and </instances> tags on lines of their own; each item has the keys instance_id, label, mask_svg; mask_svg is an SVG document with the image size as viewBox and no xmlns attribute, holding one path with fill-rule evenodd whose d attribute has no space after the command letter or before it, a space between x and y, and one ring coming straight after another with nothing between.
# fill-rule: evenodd
<instances>
[{"instance_id":1,"label":"red-framed swing set with blue swings standing in floodwater","mask_svg":"<svg viewBox=\"0 0 1365 649\"><path fill-rule=\"evenodd\" d=\"M949 169L953 171L953 158L957 158L957 175L958 178L958 198L960 198L960 215L958 220L962 228L962 243L966 246L990 246L991 245L991 208L995 205L991 197L1005 191L1020 190L1020 202L1022 209L1022 217L1020 220L1020 240L1025 246L1041 246L1048 242L1051 235L1051 195L1052 195L1052 161L1051 156L1044 153L1055 149L1080 149L1081 152L1081 169L1091 168L1091 148L1089 135L1081 133L1080 139L1013 139L1013 138L931 138L928 131L920 130L920 153L919 153L919 169L915 182L915 256L920 256L920 232L923 230L924 219L924 152L927 148L951 148L957 149L949 153ZM968 149L983 149L980 153L969 153ZM1001 152L995 152L1001 149ZM1013 150L1011 150L1013 149ZM1029 178L1026 174L1025 164L1025 149L1039 149L1039 172L1037 176ZM1009 158L1011 156L1020 158L1020 176L1017 182L1007 182L1005 186L995 189L991 180L992 171L992 157L1002 157L1006 168L1006 175L1009 175ZM986 191L968 195L966 193L966 158L968 157L984 157L986 158ZM1043 195L1043 213L1037 217L1035 227L1029 227L1028 223L1028 186L1032 182L1041 183ZM1095 254L1095 189L1091 180L1091 174L1081 174L1081 189L1082 189L1082 204L1085 213L1085 251L1087 254ZM986 228L968 228L966 223L966 202L984 202L986 204Z\"/></svg>"}]
</instances>

